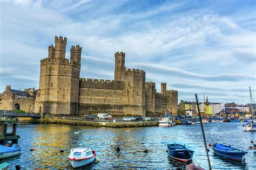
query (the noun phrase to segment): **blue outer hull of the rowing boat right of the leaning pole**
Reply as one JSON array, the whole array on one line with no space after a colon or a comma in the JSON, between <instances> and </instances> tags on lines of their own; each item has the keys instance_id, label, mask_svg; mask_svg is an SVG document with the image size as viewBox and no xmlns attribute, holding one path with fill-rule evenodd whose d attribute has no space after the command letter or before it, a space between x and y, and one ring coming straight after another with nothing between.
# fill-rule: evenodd
<instances>
[{"instance_id":1,"label":"blue outer hull of the rowing boat right of the leaning pole","mask_svg":"<svg viewBox=\"0 0 256 170\"><path fill-rule=\"evenodd\" d=\"M221 157L225 157L228 159L233 159L233 160L238 160L238 161L242 161L242 159L244 158L245 154L247 152L244 152L242 150L239 151L223 151L220 150L218 148L215 147L215 144L213 145L213 151L215 154L221 156Z\"/></svg>"}]
</instances>

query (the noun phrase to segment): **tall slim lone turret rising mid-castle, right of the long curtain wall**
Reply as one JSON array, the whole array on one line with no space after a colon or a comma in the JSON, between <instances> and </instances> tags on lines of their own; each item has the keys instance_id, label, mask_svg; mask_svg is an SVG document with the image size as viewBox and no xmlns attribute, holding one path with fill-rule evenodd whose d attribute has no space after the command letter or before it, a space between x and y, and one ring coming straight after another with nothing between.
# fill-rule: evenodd
<instances>
[{"instance_id":1,"label":"tall slim lone turret rising mid-castle, right of the long curtain wall","mask_svg":"<svg viewBox=\"0 0 256 170\"><path fill-rule=\"evenodd\" d=\"M124 52L116 52L114 53L114 80L115 81L124 81L125 74L125 53Z\"/></svg>"}]
</instances>

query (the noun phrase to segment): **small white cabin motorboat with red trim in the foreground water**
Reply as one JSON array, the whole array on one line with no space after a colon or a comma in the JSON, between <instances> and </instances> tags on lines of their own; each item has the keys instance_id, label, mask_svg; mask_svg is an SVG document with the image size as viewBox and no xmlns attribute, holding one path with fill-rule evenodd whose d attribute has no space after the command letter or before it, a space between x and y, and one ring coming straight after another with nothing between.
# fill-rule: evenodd
<instances>
[{"instance_id":1,"label":"small white cabin motorboat with red trim in the foreground water","mask_svg":"<svg viewBox=\"0 0 256 170\"><path fill-rule=\"evenodd\" d=\"M96 151L91 148L72 148L68 156L73 168L85 166L95 161Z\"/></svg>"}]
</instances>

